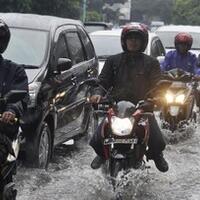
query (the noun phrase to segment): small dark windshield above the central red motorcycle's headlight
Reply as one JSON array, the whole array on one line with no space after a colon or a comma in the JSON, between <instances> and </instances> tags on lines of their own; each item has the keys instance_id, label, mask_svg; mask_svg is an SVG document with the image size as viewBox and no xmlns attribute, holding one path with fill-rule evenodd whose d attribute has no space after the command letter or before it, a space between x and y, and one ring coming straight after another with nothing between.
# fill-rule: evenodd
<instances>
[{"instance_id":1,"label":"small dark windshield above the central red motorcycle's headlight","mask_svg":"<svg viewBox=\"0 0 200 200\"><path fill-rule=\"evenodd\" d=\"M119 101L114 106L114 111L119 118L131 117L135 111L135 105L130 101Z\"/></svg>"}]
</instances>

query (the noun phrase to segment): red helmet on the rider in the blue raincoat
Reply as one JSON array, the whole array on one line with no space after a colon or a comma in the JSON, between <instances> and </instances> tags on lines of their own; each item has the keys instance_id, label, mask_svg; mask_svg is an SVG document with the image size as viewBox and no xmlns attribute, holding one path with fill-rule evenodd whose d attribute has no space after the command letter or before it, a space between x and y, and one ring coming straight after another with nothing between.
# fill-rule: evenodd
<instances>
[{"instance_id":1,"label":"red helmet on the rider in the blue raincoat","mask_svg":"<svg viewBox=\"0 0 200 200\"><path fill-rule=\"evenodd\" d=\"M185 43L188 46L188 50L191 49L192 42L192 36L188 33L178 33L174 40L175 47L177 46L177 44Z\"/></svg>"}]
</instances>

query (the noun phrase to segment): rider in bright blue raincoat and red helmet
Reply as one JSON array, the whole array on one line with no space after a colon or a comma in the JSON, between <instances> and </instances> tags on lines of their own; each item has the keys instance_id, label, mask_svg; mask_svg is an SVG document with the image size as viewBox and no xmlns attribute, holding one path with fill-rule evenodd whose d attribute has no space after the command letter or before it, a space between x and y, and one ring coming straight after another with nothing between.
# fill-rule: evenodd
<instances>
[{"instance_id":1,"label":"rider in bright blue raincoat and red helmet","mask_svg":"<svg viewBox=\"0 0 200 200\"><path fill-rule=\"evenodd\" d=\"M176 50L169 51L164 62L161 64L162 71L168 71L174 68L180 68L184 71L199 74L200 69L197 68L197 57L189 50L192 47L193 38L188 33L178 33L174 39Z\"/></svg>"}]
</instances>

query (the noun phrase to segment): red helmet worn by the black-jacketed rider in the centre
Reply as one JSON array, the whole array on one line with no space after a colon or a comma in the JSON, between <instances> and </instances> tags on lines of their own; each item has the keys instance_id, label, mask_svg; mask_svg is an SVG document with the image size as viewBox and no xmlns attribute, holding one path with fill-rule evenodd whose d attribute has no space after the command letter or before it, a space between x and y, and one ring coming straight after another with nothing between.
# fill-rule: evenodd
<instances>
[{"instance_id":1,"label":"red helmet worn by the black-jacketed rider in the centre","mask_svg":"<svg viewBox=\"0 0 200 200\"><path fill-rule=\"evenodd\" d=\"M128 24L125 25L124 28L122 29L122 33L121 33L121 45L122 45L122 49L124 51L127 51L127 47L126 47L126 36L129 33L136 33L136 34L140 34L142 37L142 47L140 49L140 52L143 52L146 49L147 43L148 43L148 30L146 28L146 26L144 24Z\"/></svg>"}]
</instances>

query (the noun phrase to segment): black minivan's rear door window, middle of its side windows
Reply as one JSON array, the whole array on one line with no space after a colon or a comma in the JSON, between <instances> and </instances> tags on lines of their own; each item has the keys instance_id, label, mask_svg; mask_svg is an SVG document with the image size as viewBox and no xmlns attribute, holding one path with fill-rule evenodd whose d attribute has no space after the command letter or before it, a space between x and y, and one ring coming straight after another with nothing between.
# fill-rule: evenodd
<instances>
[{"instance_id":1,"label":"black minivan's rear door window, middle of its side windows","mask_svg":"<svg viewBox=\"0 0 200 200\"><path fill-rule=\"evenodd\" d=\"M77 32L66 32L67 45L72 64L84 61L84 50Z\"/></svg>"}]
</instances>

